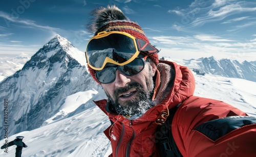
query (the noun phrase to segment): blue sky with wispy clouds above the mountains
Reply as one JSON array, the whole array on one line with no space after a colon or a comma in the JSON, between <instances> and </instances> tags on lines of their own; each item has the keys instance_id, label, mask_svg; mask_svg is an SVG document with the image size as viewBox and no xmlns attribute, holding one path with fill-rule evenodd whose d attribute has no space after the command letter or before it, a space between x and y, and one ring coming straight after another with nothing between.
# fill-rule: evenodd
<instances>
[{"instance_id":1,"label":"blue sky with wispy clouds above the mountains","mask_svg":"<svg viewBox=\"0 0 256 157\"><path fill-rule=\"evenodd\" d=\"M9 0L0 3L1 56L33 55L56 34L83 52L92 36L85 28L90 11L115 4L161 49L160 57L256 60L254 0Z\"/></svg>"}]
</instances>

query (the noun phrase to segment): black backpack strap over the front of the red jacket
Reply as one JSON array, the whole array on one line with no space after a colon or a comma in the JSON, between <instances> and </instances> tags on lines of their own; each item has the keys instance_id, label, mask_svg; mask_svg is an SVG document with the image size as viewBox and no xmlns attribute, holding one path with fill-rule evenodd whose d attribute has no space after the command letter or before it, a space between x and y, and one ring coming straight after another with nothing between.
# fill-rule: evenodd
<instances>
[{"instance_id":1,"label":"black backpack strap over the front of the red jacket","mask_svg":"<svg viewBox=\"0 0 256 157\"><path fill-rule=\"evenodd\" d=\"M163 125L159 125L156 129L156 145L159 155L162 156L182 156L172 135L172 121L176 110L181 105L169 109L169 116Z\"/></svg>"}]
</instances>

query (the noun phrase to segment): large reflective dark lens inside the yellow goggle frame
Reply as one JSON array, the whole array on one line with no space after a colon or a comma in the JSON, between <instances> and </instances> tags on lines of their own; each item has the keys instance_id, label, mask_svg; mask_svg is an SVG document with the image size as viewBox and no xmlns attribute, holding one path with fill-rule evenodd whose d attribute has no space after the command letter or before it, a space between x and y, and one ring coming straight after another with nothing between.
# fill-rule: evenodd
<instances>
[{"instance_id":1,"label":"large reflective dark lens inside the yellow goggle frame","mask_svg":"<svg viewBox=\"0 0 256 157\"><path fill-rule=\"evenodd\" d=\"M110 34L102 38L94 38L88 43L86 50L88 61L95 68L101 68L106 57L123 63L136 52L134 40L122 34Z\"/></svg>"}]
</instances>

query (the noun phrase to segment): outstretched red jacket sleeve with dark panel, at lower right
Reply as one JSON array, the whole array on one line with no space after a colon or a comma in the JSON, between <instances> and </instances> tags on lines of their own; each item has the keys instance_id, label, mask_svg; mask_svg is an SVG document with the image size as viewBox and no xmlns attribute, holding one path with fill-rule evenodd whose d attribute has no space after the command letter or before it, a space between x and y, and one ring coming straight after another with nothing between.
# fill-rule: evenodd
<instances>
[{"instance_id":1,"label":"outstretched red jacket sleeve with dark panel, at lower right","mask_svg":"<svg viewBox=\"0 0 256 157\"><path fill-rule=\"evenodd\" d=\"M183 156L256 154L256 119L222 101L188 98L176 111L172 133Z\"/></svg>"}]
</instances>

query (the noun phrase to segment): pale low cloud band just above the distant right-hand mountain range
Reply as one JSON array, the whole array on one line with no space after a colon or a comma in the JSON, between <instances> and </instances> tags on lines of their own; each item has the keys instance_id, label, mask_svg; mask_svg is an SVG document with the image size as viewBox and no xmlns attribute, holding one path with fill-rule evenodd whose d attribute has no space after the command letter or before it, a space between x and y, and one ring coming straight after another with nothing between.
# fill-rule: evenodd
<instances>
[{"instance_id":1,"label":"pale low cloud band just above the distant right-hand mountain range","mask_svg":"<svg viewBox=\"0 0 256 157\"><path fill-rule=\"evenodd\" d=\"M256 39L241 42L216 35L201 34L185 37L154 36L151 41L158 46L158 49L161 49L160 57L191 59L215 56L250 61L253 60L252 54L256 55Z\"/></svg>"}]
</instances>

